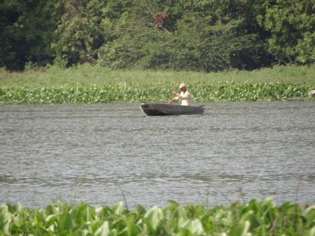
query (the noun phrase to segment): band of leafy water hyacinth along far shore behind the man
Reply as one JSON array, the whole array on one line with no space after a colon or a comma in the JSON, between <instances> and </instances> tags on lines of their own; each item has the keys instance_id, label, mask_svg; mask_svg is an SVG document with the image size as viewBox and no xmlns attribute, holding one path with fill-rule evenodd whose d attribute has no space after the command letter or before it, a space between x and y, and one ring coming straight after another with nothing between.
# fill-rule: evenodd
<instances>
[{"instance_id":1,"label":"band of leafy water hyacinth along far shore behind the man","mask_svg":"<svg viewBox=\"0 0 315 236\"><path fill-rule=\"evenodd\" d=\"M292 83L187 83L194 103L315 100L307 93L315 84ZM0 104L97 104L97 103L166 103L177 83L130 83L104 86L69 85L51 88L0 88Z\"/></svg>"}]
</instances>

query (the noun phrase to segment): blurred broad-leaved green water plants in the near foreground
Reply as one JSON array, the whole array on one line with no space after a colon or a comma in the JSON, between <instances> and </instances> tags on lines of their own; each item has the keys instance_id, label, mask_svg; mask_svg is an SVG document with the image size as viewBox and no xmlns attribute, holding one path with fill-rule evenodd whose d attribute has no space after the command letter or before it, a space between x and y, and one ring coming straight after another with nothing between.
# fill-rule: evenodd
<instances>
[{"instance_id":1,"label":"blurred broad-leaved green water plants in the near foreground","mask_svg":"<svg viewBox=\"0 0 315 236\"><path fill-rule=\"evenodd\" d=\"M123 203L93 208L56 201L44 210L6 204L0 207L0 235L315 235L315 206L302 210L287 202L276 207L271 198L210 210L201 205L181 207L171 200L168 204L148 211L140 205L135 211L123 210Z\"/></svg>"}]
</instances>

